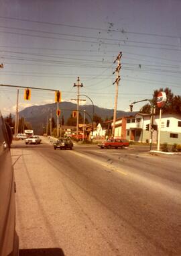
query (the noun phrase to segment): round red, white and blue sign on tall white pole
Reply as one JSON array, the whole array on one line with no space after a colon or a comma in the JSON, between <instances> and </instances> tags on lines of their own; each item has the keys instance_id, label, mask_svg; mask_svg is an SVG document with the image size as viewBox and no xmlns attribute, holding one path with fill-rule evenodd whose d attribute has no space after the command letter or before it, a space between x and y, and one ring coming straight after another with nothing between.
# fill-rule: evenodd
<instances>
[{"instance_id":1,"label":"round red, white and blue sign on tall white pole","mask_svg":"<svg viewBox=\"0 0 181 256\"><path fill-rule=\"evenodd\" d=\"M166 93L164 91L160 91L156 98L156 103L158 108L160 108L160 119L159 119L159 126L158 126L158 144L157 150L160 151L160 132L161 132L161 120L162 120L162 108L166 103Z\"/></svg>"}]
</instances>

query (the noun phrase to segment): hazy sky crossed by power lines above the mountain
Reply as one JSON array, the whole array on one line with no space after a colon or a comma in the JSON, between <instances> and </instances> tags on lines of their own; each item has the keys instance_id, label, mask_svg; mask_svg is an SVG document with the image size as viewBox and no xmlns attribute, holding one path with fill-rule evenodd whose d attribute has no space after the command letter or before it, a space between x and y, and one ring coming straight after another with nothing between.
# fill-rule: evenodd
<instances>
[{"instance_id":1,"label":"hazy sky crossed by power lines above the mountain","mask_svg":"<svg viewBox=\"0 0 181 256\"><path fill-rule=\"evenodd\" d=\"M181 1L0 2L0 84L56 89L63 101L70 101L79 76L84 85L80 93L99 107L113 108L113 61L121 51L117 110L152 98L160 87L180 95ZM16 93L0 87L4 115L15 112ZM38 90L32 90L31 101L24 101L19 89L20 110L53 102L53 92ZM91 102L86 99L86 104Z\"/></svg>"}]
</instances>

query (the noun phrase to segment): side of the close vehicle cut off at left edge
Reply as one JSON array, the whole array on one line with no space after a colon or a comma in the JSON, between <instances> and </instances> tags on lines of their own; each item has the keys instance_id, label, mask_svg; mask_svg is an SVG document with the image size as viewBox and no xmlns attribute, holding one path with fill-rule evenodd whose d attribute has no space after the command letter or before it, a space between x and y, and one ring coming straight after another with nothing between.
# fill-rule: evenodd
<instances>
[{"instance_id":1,"label":"side of the close vehicle cut off at left edge","mask_svg":"<svg viewBox=\"0 0 181 256\"><path fill-rule=\"evenodd\" d=\"M0 112L0 255L18 255L15 232L15 181L10 154L11 128Z\"/></svg>"}]
</instances>

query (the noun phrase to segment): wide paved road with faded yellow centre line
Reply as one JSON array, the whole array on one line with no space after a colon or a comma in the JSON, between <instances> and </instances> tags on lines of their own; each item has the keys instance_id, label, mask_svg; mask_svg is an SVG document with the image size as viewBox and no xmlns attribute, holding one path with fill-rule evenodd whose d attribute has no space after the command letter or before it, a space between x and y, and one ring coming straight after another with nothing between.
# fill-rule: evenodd
<instances>
[{"instance_id":1,"label":"wide paved road with faded yellow centre line","mask_svg":"<svg viewBox=\"0 0 181 256\"><path fill-rule=\"evenodd\" d=\"M139 147L14 146L21 248L181 255L180 156L152 156Z\"/></svg>"}]
</instances>

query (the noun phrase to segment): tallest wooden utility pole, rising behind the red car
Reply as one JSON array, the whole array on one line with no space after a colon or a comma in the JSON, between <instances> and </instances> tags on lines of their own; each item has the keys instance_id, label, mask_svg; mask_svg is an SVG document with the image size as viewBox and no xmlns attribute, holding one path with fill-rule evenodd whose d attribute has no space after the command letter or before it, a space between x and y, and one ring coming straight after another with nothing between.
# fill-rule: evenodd
<instances>
[{"instance_id":1,"label":"tallest wooden utility pole, rising behind the red car","mask_svg":"<svg viewBox=\"0 0 181 256\"><path fill-rule=\"evenodd\" d=\"M112 130L112 136L115 136L115 122L116 122L116 114L117 114L117 97L118 97L118 88L119 88L119 81L121 80L121 77L119 75L119 71L121 69L121 56L122 56L122 52L119 52L116 60L114 61L114 63L117 61L117 68L115 69L115 71L113 72L113 75L115 73L117 73L117 78L115 79L115 82L113 83L116 84L116 88L115 88L115 108L114 108L114 116L113 116L113 130Z\"/></svg>"}]
</instances>

